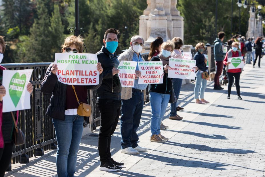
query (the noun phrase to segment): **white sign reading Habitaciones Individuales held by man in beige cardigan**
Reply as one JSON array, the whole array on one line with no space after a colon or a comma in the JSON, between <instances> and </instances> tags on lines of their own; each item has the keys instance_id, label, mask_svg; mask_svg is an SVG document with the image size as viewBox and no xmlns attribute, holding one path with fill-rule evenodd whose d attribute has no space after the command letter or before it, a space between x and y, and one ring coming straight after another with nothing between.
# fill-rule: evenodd
<instances>
[{"instance_id":1,"label":"white sign reading Habitaciones Individuales held by man in beige cardigan","mask_svg":"<svg viewBox=\"0 0 265 177\"><path fill-rule=\"evenodd\" d=\"M121 61L118 69L122 87L134 87L135 69L137 62Z\"/></svg>"}]
</instances>

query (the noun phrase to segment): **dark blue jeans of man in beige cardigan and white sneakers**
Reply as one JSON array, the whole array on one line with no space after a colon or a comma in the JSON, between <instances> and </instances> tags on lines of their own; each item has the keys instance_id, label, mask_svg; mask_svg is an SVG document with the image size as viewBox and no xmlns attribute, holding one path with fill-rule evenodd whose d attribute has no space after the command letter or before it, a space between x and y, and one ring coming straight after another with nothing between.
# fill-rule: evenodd
<instances>
[{"instance_id":1,"label":"dark blue jeans of man in beige cardigan and white sneakers","mask_svg":"<svg viewBox=\"0 0 265 177\"><path fill-rule=\"evenodd\" d=\"M144 93L132 91L130 99L122 99L121 105L121 148L137 147L136 130L140 125L144 107Z\"/></svg>"}]
</instances>

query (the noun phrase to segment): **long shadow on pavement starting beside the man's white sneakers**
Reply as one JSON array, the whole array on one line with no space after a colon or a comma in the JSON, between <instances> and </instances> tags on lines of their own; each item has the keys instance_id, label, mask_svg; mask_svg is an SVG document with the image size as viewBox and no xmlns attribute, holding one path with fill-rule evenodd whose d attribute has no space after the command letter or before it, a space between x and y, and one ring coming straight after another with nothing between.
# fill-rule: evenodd
<instances>
[{"instance_id":1,"label":"long shadow on pavement starting beside the man's white sneakers","mask_svg":"<svg viewBox=\"0 0 265 177\"><path fill-rule=\"evenodd\" d=\"M184 159L171 158L171 157L159 156L159 155L154 155L154 154L146 154L144 158L158 160L159 162L164 162L165 165L185 166L185 167L193 167L193 168L209 168L213 170L226 170L226 168L221 168L221 167L227 166L221 163L202 162L202 161L196 161L196 160L184 160Z\"/></svg>"}]
</instances>

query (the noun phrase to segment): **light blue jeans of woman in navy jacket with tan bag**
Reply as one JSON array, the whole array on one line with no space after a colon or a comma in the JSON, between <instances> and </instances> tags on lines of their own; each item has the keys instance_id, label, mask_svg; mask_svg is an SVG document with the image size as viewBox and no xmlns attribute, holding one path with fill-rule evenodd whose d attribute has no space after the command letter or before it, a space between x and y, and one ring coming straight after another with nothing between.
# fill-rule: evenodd
<instances>
[{"instance_id":1,"label":"light blue jeans of woman in navy jacket with tan bag","mask_svg":"<svg viewBox=\"0 0 265 177\"><path fill-rule=\"evenodd\" d=\"M200 71L196 73L196 77L197 77L196 85L194 88L195 99L199 99L199 90L200 90L200 98L204 99L204 91L206 89L207 80L202 79L202 74L200 73Z\"/></svg>"}]
</instances>

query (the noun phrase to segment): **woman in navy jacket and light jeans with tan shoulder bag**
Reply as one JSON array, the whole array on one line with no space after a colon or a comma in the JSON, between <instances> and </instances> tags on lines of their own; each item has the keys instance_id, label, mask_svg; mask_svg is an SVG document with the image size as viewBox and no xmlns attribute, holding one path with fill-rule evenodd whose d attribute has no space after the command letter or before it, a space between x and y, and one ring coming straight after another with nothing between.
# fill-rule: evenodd
<instances>
[{"instance_id":1,"label":"woman in navy jacket and light jeans with tan shoulder bag","mask_svg":"<svg viewBox=\"0 0 265 177\"><path fill-rule=\"evenodd\" d=\"M205 50L204 43L200 42L196 44L195 50L197 53L194 55L194 60L196 60L196 66L198 67L198 72L196 73L196 85L194 88L194 95L196 99L196 103L204 104L209 103L204 99L204 91L206 89L207 80L206 78L202 78L202 74L208 72L208 68L206 67L207 59L202 54ZM200 90L200 99L199 99L199 90Z\"/></svg>"}]
</instances>

